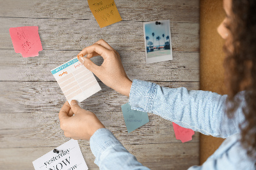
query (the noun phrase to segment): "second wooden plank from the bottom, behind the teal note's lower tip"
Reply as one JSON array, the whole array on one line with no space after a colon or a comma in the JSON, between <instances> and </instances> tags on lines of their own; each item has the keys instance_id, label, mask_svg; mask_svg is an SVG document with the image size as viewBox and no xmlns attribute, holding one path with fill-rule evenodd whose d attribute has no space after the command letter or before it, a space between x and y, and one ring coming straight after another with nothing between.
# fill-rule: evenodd
<instances>
[{"instance_id":1,"label":"second wooden plank from the bottom, behind the teal note's lower tip","mask_svg":"<svg viewBox=\"0 0 256 170\"><path fill-rule=\"evenodd\" d=\"M149 123L129 134L122 112L102 111L95 114L123 144L181 143L175 138L172 122L155 114L148 114ZM60 128L58 112L50 111L2 113L0 136L0 148L47 147L64 143L66 139ZM196 132L189 143L199 143L199 133ZM84 141L84 144L89 145L89 142Z\"/></svg>"}]
</instances>

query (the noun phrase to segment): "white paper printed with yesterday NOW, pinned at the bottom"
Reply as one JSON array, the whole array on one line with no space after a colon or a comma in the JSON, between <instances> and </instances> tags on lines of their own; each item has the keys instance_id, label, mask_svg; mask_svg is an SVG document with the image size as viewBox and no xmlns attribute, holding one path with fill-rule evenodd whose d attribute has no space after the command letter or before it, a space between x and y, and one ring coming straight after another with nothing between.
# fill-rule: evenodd
<instances>
[{"instance_id":1,"label":"white paper printed with yesterday NOW, pinned at the bottom","mask_svg":"<svg viewBox=\"0 0 256 170\"><path fill-rule=\"evenodd\" d=\"M67 143L61 144L56 150L59 153L54 153L51 150L34 160L33 166L35 170L88 169L76 140L71 139Z\"/></svg>"}]
</instances>

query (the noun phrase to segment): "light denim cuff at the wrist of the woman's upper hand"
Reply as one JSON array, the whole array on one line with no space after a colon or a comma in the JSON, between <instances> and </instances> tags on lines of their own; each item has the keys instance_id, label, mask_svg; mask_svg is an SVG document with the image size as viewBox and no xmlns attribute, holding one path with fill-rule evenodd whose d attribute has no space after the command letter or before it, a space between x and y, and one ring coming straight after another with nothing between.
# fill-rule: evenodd
<instances>
[{"instance_id":1,"label":"light denim cuff at the wrist of the woman's upper hand","mask_svg":"<svg viewBox=\"0 0 256 170\"><path fill-rule=\"evenodd\" d=\"M130 91L129 105L133 110L152 112L155 96L155 83L134 79Z\"/></svg>"}]
</instances>

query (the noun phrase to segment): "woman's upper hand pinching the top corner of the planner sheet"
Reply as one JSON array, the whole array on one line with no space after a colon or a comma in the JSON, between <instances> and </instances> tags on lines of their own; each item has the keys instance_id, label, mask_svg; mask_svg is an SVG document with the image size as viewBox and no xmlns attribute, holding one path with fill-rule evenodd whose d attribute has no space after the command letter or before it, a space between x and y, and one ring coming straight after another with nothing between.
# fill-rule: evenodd
<instances>
[{"instance_id":1,"label":"woman's upper hand pinching the top corner of the planner sheet","mask_svg":"<svg viewBox=\"0 0 256 170\"><path fill-rule=\"evenodd\" d=\"M82 56L83 55L83 56ZM84 57L87 55L86 57ZM97 66L90 58L102 56L104 59L102 65ZM93 72L106 86L114 89L118 93L129 97L132 81L127 77L120 56L104 40L99 40L89 47L85 47L77 58L83 65Z\"/></svg>"}]
</instances>

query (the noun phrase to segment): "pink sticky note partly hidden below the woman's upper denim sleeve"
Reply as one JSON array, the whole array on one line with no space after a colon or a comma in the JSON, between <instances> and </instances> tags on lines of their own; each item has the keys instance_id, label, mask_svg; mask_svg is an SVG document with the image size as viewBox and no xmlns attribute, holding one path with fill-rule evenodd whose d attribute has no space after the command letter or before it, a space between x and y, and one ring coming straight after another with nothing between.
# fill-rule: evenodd
<instances>
[{"instance_id":1,"label":"pink sticky note partly hidden below the woman's upper denim sleeve","mask_svg":"<svg viewBox=\"0 0 256 170\"><path fill-rule=\"evenodd\" d=\"M186 143L192 140L192 136L195 132L189 128L180 127L176 123L172 123L175 137L180 140L182 143Z\"/></svg>"}]
</instances>

